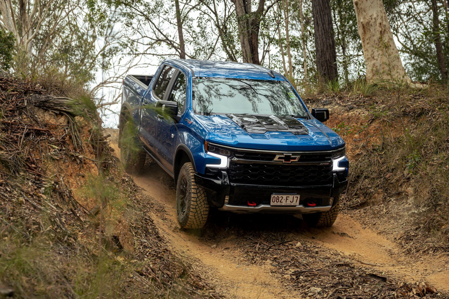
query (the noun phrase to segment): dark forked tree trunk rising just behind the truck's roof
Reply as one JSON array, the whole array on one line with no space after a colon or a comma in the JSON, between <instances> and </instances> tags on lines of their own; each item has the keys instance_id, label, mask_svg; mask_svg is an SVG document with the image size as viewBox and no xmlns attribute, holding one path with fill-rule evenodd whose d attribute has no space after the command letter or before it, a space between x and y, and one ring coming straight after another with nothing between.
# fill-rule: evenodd
<instances>
[{"instance_id":1,"label":"dark forked tree trunk rising just behind the truck's roof","mask_svg":"<svg viewBox=\"0 0 449 299\"><path fill-rule=\"evenodd\" d=\"M232 0L237 15L237 25L242 47L243 62L260 65L259 30L263 16L265 0L259 0L256 11L251 9L251 0Z\"/></svg>"}]
</instances>

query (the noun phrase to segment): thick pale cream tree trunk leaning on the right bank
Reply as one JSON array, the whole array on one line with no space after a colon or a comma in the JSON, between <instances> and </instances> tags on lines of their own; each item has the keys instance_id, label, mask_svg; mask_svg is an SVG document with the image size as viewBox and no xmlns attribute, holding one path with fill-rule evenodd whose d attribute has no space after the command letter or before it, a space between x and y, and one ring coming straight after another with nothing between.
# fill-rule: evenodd
<instances>
[{"instance_id":1,"label":"thick pale cream tree trunk leaning on the right bank","mask_svg":"<svg viewBox=\"0 0 449 299\"><path fill-rule=\"evenodd\" d=\"M382 0L353 0L369 83L411 80L405 74Z\"/></svg>"}]
</instances>

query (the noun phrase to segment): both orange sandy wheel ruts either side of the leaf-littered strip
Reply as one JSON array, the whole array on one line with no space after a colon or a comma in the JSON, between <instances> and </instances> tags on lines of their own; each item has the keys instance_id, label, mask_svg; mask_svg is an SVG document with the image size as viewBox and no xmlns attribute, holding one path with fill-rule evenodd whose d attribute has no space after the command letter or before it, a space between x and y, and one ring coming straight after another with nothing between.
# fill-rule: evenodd
<instances>
[{"instance_id":1,"label":"both orange sandy wheel ruts either side of the leaf-littered strip","mask_svg":"<svg viewBox=\"0 0 449 299\"><path fill-rule=\"evenodd\" d=\"M117 153L116 144L111 144ZM174 183L163 169L152 165L151 170L135 176L137 185L164 205L167 219L154 217L159 228L171 242L173 250L194 260L198 268L214 280L217 288L228 298L298 298L279 277L270 273L270 265L246 266L233 252L232 238L218 243L202 241L198 236L179 229L176 219ZM270 221L270 215L267 215ZM429 282L437 290L449 291L449 256L407 256L398 245L363 227L356 219L344 215L331 228L301 227L292 230L299 239L308 239L334 249L343 258L373 267L385 275L406 282ZM217 245L211 248L211 245ZM241 263L242 262L242 263Z\"/></svg>"}]
</instances>

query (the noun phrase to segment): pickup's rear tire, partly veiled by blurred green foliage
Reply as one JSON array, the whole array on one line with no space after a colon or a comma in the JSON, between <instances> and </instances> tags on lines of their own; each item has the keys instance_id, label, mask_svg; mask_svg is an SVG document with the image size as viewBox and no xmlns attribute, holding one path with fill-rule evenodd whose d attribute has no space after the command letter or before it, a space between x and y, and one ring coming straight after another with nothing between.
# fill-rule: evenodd
<instances>
[{"instance_id":1,"label":"pickup's rear tire, partly veiled by blurred green foliage","mask_svg":"<svg viewBox=\"0 0 449 299\"><path fill-rule=\"evenodd\" d=\"M120 160L127 173L139 174L145 165L146 153L137 139L137 132L131 121L127 121L120 130Z\"/></svg>"}]
</instances>

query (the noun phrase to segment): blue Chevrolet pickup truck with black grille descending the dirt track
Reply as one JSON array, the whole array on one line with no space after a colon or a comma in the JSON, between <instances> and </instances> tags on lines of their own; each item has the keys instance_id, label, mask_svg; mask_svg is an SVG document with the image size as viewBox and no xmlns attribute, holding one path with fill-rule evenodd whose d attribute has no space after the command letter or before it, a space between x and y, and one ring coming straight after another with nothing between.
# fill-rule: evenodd
<instances>
[{"instance_id":1,"label":"blue Chevrolet pickup truck with black grille descending the dirt track","mask_svg":"<svg viewBox=\"0 0 449 299\"><path fill-rule=\"evenodd\" d=\"M123 80L121 160L138 173L150 156L174 178L182 228L202 228L210 208L330 226L349 161L328 118L271 69L167 59L154 76Z\"/></svg>"}]
</instances>

